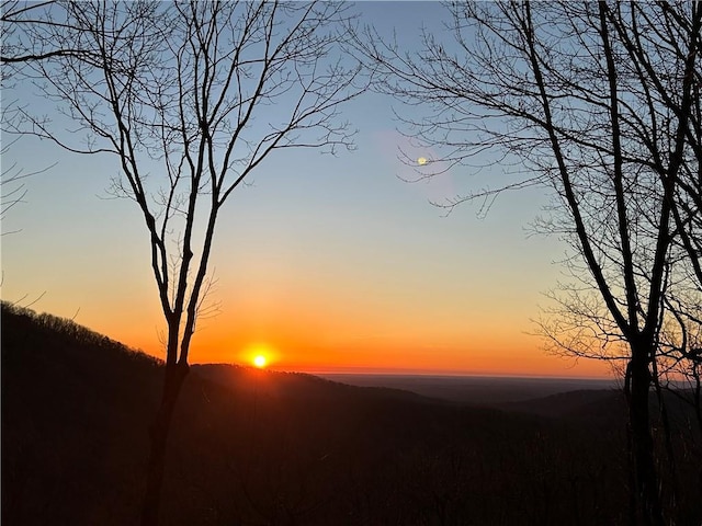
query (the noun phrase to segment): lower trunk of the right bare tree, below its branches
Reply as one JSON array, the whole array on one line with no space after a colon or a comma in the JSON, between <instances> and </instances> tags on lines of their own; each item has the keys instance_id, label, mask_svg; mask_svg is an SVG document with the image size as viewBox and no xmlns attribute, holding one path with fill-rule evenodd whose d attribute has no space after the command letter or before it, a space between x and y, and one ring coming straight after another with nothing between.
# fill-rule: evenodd
<instances>
[{"instance_id":1,"label":"lower trunk of the right bare tree, below its branches","mask_svg":"<svg viewBox=\"0 0 702 526\"><path fill-rule=\"evenodd\" d=\"M639 519L646 526L664 526L658 474L654 456L654 441L649 421L648 353L644 348L632 348L631 389L629 392L629 425L631 453L635 479L635 493Z\"/></svg>"}]
</instances>

